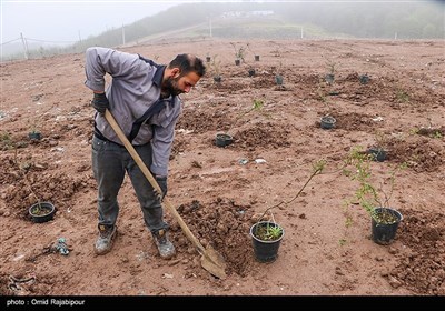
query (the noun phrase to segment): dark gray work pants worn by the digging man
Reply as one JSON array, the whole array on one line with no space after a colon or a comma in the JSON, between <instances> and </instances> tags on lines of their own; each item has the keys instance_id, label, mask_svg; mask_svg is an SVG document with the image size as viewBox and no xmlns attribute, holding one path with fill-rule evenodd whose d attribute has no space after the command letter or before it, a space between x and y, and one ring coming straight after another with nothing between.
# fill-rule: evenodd
<instances>
[{"instance_id":1,"label":"dark gray work pants worn by the digging man","mask_svg":"<svg viewBox=\"0 0 445 311\"><path fill-rule=\"evenodd\" d=\"M135 146L147 168L151 164L151 144ZM92 172L98 183L99 224L115 225L118 214L118 193L127 172L138 197L144 221L150 232L168 229L162 208L154 189L131 154L123 146L92 138Z\"/></svg>"}]
</instances>

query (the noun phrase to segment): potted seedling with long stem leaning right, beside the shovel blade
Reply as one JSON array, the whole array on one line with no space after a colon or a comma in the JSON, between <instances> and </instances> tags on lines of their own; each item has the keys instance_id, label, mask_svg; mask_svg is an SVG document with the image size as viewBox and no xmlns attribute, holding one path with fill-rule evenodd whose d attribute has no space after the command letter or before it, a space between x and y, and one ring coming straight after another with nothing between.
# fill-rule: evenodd
<instances>
[{"instance_id":1,"label":"potted seedling with long stem leaning right, beside the shovel blade","mask_svg":"<svg viewBox=\"0 0 445 311\"><path fill-rule=\"evenodd\" d=\"M278 204L267 208L263 214L256 220L256 222L250 227L250 237L254 247L255 258L259 262L271 262L275 261L278 257L279 244L285 234L284 228L278 224L273 213L271 209L280 207L283 204L287 205L295 201L301 192L305 190L306 185L310 182L310 180L320 174L326 165L326 161L318 160L313 163L313 171L303 187L299 189L297 194L289 201L281 201ZM264 221L267 213L271 214L271 221Z\"/></svg>"}]
</instances>

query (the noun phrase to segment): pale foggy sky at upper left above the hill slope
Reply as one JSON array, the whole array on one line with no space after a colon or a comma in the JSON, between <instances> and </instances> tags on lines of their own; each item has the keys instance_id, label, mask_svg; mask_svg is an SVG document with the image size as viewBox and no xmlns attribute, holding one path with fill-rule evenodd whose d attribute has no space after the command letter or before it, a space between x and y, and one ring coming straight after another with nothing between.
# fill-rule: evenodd
<instances>
[{"instance_id":1,"label":"pale foggy sky at upper left above the hill slope","mask_svg":"<svg viewBox=\"0 0 445 311\"><path fill-rule=\"evenodd\" d=\"M1 0L1 42L23 37L73 43L108 29L154 16L181 1ZM168 21L166 21L168 22Z\"/></svg>"}]
</instances>

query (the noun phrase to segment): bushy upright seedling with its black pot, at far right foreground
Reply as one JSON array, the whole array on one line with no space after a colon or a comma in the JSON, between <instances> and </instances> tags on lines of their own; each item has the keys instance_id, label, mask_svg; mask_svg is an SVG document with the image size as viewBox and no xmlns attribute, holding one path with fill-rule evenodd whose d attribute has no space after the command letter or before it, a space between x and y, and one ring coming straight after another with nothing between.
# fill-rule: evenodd
<instances>
[{"instance_id":1,"label":"bushy upright seedling with its black pot, at far right foreground","mask_svg":"<svg viewBox=\"0 0 445 311\"><path fill-rule=\"evenodd\" d=\"M373 182L372 161L373 158L359 147L354 148L346 160L344 173L358 183L354 200L370 215L373 241L387 245L394 241L403 219L402 213L389 204L389 200L394 191L395 175L406 168L406 163L390 170L388 177L376 185ZM384 189L385 185L388 190Z\"/></svg>"}]
</instances>

